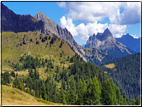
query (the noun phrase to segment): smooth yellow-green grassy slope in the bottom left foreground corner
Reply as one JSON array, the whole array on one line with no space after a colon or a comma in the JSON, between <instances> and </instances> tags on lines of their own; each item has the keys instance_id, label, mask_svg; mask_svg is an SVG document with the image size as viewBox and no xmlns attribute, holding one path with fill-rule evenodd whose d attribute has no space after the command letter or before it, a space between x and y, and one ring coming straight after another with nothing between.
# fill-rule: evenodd
<instances>
[{"instance_id":1,"label":"smooth yellow-green grassy slope in the bottom left foreground corner","mask_svg":"<svg viewBox=\"0 0 142 107\"><path fill-rule=\"evenodd\" d=\"M19 89L2 85L2 105L61 105L31 96Z\"/></svg>"}]
</instances>

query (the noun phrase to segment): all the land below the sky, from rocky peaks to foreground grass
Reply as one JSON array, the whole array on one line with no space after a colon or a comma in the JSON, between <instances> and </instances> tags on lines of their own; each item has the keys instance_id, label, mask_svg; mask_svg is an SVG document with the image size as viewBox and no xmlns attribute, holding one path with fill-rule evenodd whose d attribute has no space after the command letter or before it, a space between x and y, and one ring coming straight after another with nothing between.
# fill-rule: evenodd
<instances>
[{"instance_id":1,"label":"all the land below the sky, from rocky peaks to foreground grass","mask_svg":"<svg viewBox=\"0 0 142 107\"><path fill-rule=\"evenodd\" d=\"M138 45L106 28L82 47L41 11L1 7L2 105L140 105Z\"/></svg>"}]
</instances>

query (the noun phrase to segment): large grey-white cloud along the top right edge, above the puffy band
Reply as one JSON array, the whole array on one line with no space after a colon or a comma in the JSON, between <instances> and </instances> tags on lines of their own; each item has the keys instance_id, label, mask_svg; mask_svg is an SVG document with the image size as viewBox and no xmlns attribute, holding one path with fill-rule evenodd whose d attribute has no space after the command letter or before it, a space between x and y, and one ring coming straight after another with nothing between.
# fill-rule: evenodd
<instances>
[{"instance_id":1,"label":"large grey-white cloud along the top right edge, above the puffy band","mask_svg":"<svg viewBox=\"0 0 142 107\"><path fill-rule=\"evenodd\" d=\"M97 22L108 17L112 24L134 24L140 22L140 2L60 2L72 20ZM124 11L120 13L120 8Z\"/></svg>"}]
</instances>

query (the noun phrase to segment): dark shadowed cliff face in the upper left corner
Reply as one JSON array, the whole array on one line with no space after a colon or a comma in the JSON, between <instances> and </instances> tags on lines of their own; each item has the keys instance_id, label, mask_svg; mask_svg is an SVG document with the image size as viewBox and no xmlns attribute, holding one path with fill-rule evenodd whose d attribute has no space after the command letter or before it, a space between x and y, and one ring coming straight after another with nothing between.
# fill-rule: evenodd
<instances>
[{"instance_id":1,"label":"dark shadowed cliff face in the upper left corner","mask_svg":"<svg viewBox=\"0 0 142 107\"><path fill-rule=\"evenodd\" d=\"M27 32L41 31L44 23L31 15L17 15L2 4L2 31Z\"/></svg>"}]
</instances>

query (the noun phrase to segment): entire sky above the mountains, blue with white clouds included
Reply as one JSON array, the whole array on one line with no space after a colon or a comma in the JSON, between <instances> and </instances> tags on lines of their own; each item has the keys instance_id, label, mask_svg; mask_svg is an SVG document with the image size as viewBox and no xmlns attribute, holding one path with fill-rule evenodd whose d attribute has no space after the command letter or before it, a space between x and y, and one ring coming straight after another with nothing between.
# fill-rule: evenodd
<instances>
[{"instance_id":1,"label":"entire sky above the mountains, blue with white clouds included","mask_svg":"<svg viewBox=\"0 0 142 107\"><path fill-rule=\"evenodd\" d=\"M133 3L133 4L132 4ZM61 27L67 28L80 45L93 33L107 27L114 37L129 33L140 37L140 2L3 2L16 14L41 11Z\"/></svg>"}]
</instances>

